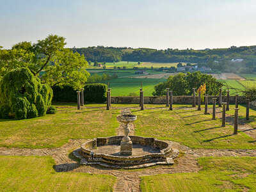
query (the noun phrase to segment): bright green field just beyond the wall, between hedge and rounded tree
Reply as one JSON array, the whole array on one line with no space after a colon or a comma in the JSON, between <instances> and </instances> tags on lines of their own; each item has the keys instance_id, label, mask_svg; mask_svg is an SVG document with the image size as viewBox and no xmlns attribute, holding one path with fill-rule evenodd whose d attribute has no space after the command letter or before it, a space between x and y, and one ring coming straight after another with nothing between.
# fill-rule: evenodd
<instances>
[{"instance_id":1,"label":"bright green field just beyond the wall, between hedge and rounded tree","mask_svg":"<svg viewBox=\"0 0 256 192\"><path fill-rule=\"evenodd\" d=\"M137 93L139 96L142 83L144 95L152 96L154 86L164 81L166 81L166 79L118 78L111 79L109 81L109 87L111 88L111 95L113 96L127 96L129 93Z\"/></svg>"}]
</instances>

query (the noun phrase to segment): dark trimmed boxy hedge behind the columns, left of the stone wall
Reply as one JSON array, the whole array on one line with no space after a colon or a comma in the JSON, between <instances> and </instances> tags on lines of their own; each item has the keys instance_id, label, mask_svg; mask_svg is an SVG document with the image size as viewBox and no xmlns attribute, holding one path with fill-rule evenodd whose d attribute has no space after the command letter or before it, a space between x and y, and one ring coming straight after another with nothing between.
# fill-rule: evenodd
<instances>
[{"instance_id":1,"label":"dark trimmed boxy hedge behind the columns, left of the stone wall","mask_svg":"<svg viewBox=\"0 0 256 192\"><path fill-rule=\"evenodd\" d=\"M107 100L106 84L86 84L84 86L84 102L105 102ZM77 93L71 86L54 86L52 101L77 102Z\"/></svg>"}]
</instances>

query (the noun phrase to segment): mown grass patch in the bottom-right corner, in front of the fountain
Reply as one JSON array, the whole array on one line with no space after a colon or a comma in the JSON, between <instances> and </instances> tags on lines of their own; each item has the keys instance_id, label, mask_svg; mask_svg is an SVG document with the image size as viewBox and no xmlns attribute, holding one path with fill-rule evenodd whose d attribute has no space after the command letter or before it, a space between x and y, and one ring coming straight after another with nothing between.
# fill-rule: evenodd
<instances>
[{"instance_id":1,"label":"mown grass patch in the bottom-right corner, in front of the fountain","mask_svg":"<svg viewBox=\"0 0 256 192\"><path fill-rule=\"evenodd\" d=\"M141 191L256 191L256 157L202 157L198 173L141 177Z\"/></svg>"}]
</instances>

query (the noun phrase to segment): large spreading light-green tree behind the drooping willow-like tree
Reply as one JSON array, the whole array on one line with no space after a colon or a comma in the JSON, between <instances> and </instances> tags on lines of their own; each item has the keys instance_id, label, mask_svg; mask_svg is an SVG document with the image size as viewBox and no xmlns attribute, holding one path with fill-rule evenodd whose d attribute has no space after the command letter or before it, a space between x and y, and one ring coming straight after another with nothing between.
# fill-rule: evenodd
<instances>
[{"instance_id":1,"label":"large spreading light-green tree behind the drooping willow-like tree","mask_svg":"<svg viewBox=\"0 0 256 192\"><path fill-rule=\"evenodd\" d=\"M65 45L63 36L49 35L35 44L20 42L10 50L1 49L0 77L15 68L28 67L42 83L78 89L89 76L88 63L83 55L64 48Z\"/></svg>"}]
</instances>

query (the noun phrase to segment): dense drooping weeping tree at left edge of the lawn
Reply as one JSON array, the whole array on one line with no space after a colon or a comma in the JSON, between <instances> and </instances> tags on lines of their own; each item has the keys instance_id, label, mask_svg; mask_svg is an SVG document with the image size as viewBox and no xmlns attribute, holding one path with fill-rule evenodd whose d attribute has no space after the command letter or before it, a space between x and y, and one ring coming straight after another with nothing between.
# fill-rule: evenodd
<instances>
[{"instance_id":1,"label":"dense drooping weeping tree at left edge of the lawn","mask_svg":"<svg viewBox=\"0 0 256 192\"><path fill-rule=\"evenodd\" d=\"M0 81L0 118L44 116L51 106L52 89L42 84L28 68L17 68Z\"/></svg>"}]
</instances>

